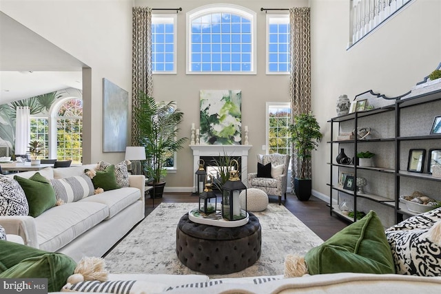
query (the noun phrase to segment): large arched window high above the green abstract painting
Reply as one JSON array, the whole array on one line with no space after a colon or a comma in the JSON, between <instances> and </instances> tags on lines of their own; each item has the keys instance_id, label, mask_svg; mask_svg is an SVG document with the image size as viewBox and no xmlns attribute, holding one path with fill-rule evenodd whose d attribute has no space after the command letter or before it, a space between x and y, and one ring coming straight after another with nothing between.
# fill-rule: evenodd
<instances>
[{"instance_id":1,"label":"large arched window high above the green abstract painting","mask_svg":"<svg viewBox=\"0 0 441 294\"><path fill-rule=\"evenodd\" d=\"M187 74L255 74L256 13L232 4L187 13Z\"/></svg>"}]
</instances>

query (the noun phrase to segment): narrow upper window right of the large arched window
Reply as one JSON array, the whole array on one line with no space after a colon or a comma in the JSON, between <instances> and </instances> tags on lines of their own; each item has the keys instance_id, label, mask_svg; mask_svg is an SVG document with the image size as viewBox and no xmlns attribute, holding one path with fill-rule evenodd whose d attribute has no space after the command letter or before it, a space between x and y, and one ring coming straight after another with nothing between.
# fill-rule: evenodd
<instances>
[{"instance_id":1,"label":"narrow upper window right of the large arched window","mask_svg":"<svg viewBox=\"0 0 441 294\"><path fill-rule=\"evenodd\" d=\"M289 15L267 14L267 74L289 74Z\"/></svg>"}]
</instances>

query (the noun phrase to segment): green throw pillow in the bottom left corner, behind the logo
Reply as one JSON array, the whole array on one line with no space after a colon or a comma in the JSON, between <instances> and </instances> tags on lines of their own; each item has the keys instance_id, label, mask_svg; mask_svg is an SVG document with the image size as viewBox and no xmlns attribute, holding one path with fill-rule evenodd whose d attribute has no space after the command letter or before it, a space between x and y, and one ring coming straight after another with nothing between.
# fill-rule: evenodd
<instances>
[{"instance_id":1,"label":"green throw pillow in the bottom left corner, behind the logo","mask_svg":"<svg viewBox=\"0 0 441 294\"><path fill-rule=\"evenodd\" d=\"M57 292L74 273L76 262L63 253L50 253L0 240L0 278L46 278L48 292Z\"/></svg>"}]
</instances>

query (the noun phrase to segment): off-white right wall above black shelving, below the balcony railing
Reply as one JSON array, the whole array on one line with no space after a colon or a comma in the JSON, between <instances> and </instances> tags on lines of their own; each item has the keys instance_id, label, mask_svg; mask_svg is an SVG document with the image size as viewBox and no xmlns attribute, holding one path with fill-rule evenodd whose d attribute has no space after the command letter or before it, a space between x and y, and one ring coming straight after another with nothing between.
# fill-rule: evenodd
<instances>
[{"instance_id":1,"label":"off-white right wall above black shelving, below the balcony railing","mask_svg":"<svg viewBox=\"0 0 441 294\"><path fill-rule=\"evenodd\" d=\"M311 0L312 108L324 138L313 155L313 190L329 195L330 126L336 99L367 90L404 94L441 62L441 1L415 0L346 50L349 0ZM338 152L334 151L335 156Z\"/></svg>"}]
</instances>

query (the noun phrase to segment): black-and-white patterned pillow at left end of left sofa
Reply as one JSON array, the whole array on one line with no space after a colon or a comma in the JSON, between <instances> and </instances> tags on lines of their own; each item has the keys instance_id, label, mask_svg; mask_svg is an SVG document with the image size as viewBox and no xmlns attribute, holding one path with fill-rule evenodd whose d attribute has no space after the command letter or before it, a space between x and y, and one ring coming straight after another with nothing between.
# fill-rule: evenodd
<instances>
[{"instance_id":1,"label":"black-and-white patterned pillow at left end of left sofa","mask_svg":"<svg viewBox=\"0 0 441 294\"><path fill-rule=\"evenodd\" d=\"M28 216L29 204L19 183L0 175L0 216Z\"/></svg>"}]
</instances>

